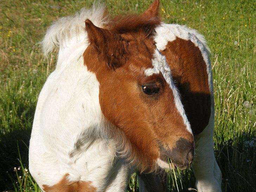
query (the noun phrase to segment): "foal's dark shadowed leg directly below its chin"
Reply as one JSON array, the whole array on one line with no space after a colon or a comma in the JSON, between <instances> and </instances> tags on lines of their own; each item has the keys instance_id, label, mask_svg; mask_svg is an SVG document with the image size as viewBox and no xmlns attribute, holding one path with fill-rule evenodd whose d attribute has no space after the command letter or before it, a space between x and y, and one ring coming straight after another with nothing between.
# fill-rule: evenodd
<instances>
[{"instance_id":1,"label":"foal's dark shadowed leg directly below its chin","mask_svg":"<svg viewBox=\"0 0 256 192\"><path fill-rule=\"evenodd\" d=\"M166 186L164 173L137 173L140 192L163 192Z\"/></svg>"}]
</instances>

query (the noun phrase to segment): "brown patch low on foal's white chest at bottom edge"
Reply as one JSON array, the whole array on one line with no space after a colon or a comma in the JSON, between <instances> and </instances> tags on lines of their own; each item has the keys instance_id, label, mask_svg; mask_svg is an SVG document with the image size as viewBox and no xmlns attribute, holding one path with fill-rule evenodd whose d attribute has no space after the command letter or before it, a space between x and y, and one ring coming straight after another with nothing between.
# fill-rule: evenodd
<instances>
[{"instance_id":1,"label":"brown patch low on foal's white chest at bottom edge","mask_svg":"<svg viewBox=\"0 0 256 192\"><path fill-rule=\"evenodd\" d=\"M63 178L55 185L43 185L45 192L94 192L96 188L91 185L91 181L76 181L68 180L69 174L66 173Z\"/></svg>"}]
</instances>

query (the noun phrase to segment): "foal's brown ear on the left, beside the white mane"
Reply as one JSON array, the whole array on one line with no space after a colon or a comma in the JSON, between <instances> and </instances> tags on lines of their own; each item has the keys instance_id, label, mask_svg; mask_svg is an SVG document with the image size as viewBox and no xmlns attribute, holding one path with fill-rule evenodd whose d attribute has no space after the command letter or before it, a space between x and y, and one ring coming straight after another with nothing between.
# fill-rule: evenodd
<instances>
[{"instance_id":1,"label":"foal's brown ear on the left, beside the white mane","mask_svg":"<svg viewBox=\"0 0 256 192\"><path fill-rule=\"evenodd\" d=\"M105 43L105 30L95 26L89 19L85 20L85 30L87 31L87 38L97 51L101 52L101 45Z\"/></svg>"}]
</instances>

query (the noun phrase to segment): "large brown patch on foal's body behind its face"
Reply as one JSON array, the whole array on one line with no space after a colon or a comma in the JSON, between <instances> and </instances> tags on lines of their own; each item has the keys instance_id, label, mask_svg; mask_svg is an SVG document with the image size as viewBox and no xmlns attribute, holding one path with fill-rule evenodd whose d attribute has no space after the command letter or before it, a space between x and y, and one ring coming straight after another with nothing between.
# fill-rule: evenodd
<instances>
[{"instance_id":1,"label":"large brown patch on foal's body behind its face","mask_svg":"<svg viewBox=\"0 0 256 192\"><path fill-rule=\"evenodd\" d=\"M177 37L161 53L173 71L192 131L199 134L209 123L211 114L208 75L201 51L190 40Z\"/></svg>"}]
</instances>

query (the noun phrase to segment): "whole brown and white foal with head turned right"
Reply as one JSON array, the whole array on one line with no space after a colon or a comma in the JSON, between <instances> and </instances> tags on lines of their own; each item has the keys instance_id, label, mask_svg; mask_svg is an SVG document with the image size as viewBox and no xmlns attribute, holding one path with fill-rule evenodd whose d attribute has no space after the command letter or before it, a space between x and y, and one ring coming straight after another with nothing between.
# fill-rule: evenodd
<instances>
[{"instance_id":1,"label":"whole brown and white foal with head turned right","mask_svg":"<svg viewBox=\"0 0 256 192\"><path fill-rule=\"evenodd\" d=\"M29 147L43 191L126 191L135 171L140 191L164 191L156 173L168 158L192 164L198 191L221 191L209 48L196 30L161 23L158 9L155 0L111 19L94 4L47 30L43 49L59 47L57 65Z\"/></svg>"}]
</instances>

